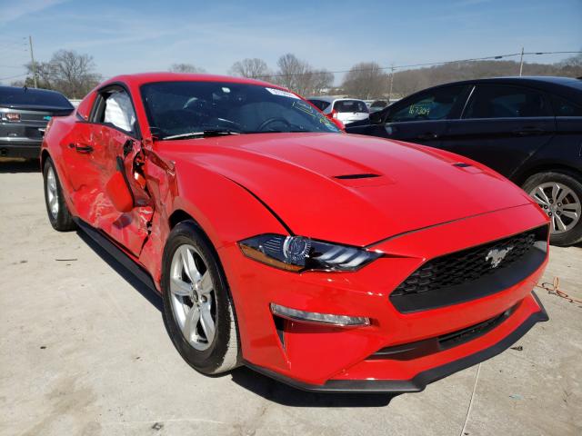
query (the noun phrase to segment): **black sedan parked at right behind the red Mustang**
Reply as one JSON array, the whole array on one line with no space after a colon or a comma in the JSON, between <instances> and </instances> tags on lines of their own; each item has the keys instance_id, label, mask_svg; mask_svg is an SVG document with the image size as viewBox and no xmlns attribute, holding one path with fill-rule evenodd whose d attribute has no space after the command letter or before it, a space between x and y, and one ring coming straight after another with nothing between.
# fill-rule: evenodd
<instances>
[{"instance_id":1,"label":"black sedan parked at right behind the red Mustang","mask_svg":"<svg viewBox=\"0 0 582 436\"><path fill-rule=\"evenodd\" d=\"M346 132L426 144L485 163L552 222L551 242L582 241L582 80L503 77L410 95Z\"/></svg>"}]
</instances>

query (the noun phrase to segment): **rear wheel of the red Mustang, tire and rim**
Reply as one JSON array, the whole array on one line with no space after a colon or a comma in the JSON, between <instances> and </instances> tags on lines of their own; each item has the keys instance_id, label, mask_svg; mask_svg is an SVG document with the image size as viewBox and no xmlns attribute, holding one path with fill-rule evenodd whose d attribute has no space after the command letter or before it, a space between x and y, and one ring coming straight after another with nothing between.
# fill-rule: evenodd
<instances>
[{"instance_id":1,"label":"rear wheel of the red Mustang, tire and rim","mask_svg":"<svg viewBox=\"0 0 582 436\"><path fill-rule=\"evenodd\" d=\"M76 229L73 215L69 212L63 195L63 187L58 179L55 164L50 157L46 158L43 168L45 186L45 205L48 221L58 232L70 232Z\"/></svg>"}]
</instances>

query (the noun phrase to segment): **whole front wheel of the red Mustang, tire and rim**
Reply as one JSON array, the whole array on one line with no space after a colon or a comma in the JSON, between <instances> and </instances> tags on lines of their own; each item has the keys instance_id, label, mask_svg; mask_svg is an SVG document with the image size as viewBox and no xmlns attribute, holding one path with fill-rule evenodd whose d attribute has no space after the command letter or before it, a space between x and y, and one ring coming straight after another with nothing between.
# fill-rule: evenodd
<instances>
[{"instance_id":1,"label":"whole front wheel of the red Mustang, tire and rim","mask_svg":"<svg viewBox=\"0 0 582 436\"><path fill-rule=\"evenodd\" d=\"M186 266L185 258L188 264L194 261L194 269ZM196 280L196 273L203 279ZM210 285L204 277L211 280ZM162 260L162 292L166 330L190 366L208 375L240 366L236 312L226 276L214 247L192 221L178 223L168 237ZM192 321L196 320L196 310L198 321ZM205 323L208 316L215 322L212 341Z\"/></svg>"}]
</instances>

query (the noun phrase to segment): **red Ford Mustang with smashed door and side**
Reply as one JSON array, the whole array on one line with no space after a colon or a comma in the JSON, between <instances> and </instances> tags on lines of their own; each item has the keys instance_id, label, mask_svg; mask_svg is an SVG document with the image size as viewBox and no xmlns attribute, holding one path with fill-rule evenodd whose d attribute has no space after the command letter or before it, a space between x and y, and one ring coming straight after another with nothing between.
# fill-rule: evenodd
<instances>
[{"instance_id":1,"label":"red Ford Mustang with smashed door and side","mask_svg":"<svg viewBox=\"0 0 582 436\"><path fill-rule=\"evenodd\" d=\"M421 391L547 315L547 216L467 158L344 134L273 84L115 77L42 148L48 217L164 300L199 372Z\"/></svg>"}]
</instances>

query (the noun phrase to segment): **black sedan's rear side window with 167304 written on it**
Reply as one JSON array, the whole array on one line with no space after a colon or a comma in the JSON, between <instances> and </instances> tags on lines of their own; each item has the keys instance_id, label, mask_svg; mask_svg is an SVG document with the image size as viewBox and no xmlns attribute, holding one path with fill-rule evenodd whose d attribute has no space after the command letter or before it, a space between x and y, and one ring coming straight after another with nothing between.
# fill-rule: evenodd
<instances>
[{"instance_id":1,"label":"black sedan's rear side window with 167304 written on it","mask_svg":"<svg viewBox=\"0 0 582 436\"><path fill-rule=\"evenodd\" d=\"M520 86L477 85L463 118L520 118L551 116L544 94Z\"/></svg>"}]
</instances>

